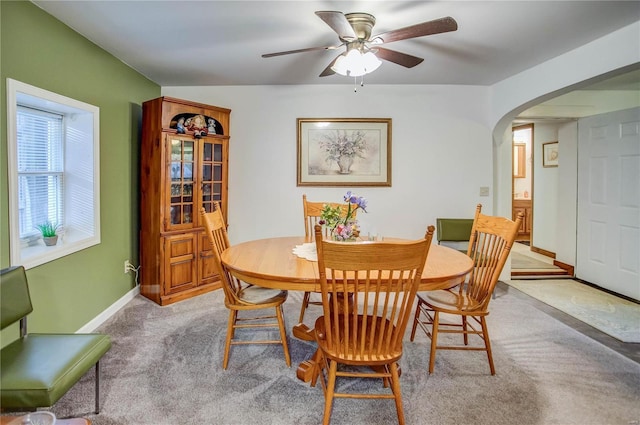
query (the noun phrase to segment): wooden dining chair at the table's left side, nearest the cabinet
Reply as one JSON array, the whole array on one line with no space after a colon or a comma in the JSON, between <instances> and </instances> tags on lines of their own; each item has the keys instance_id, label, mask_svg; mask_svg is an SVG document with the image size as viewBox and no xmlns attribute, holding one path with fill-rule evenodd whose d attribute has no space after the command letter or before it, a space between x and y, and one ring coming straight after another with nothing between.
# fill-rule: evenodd
<instances>
[{"instance_id":1,"label":"wooden dining chair at the table's left side, nearest the cabinet","mask_svg":"<svg viewBox=\"0 0 640 425\"><path fill-rule=\"evenodd\" d=\"M227 226L222 217L220 203L215 203L212 212L207 213L204 208L200 209L200 215L203 218L204 227L211 244L213 245L213 257L215 259L222 289L224 290L224 305L229 309L229 321L227 323L227 337L224 347L224 358L222 360L223 369L227 368L229 363L229 352L232 345L241 344L281 344L284 351L284 358L287 366L291 366L291 357L289 356L289 346L287 345L287 333L284 325L284 317L282 305L287 300L287 291L278 289L262 288L243 283L232 273L230 273L222 264L220 255L229 247L229 237L227 235ZM265 310L274 309L273 315L242 315L241 312L247 310ZM273 321L272 319L276 319ZM235 338L236 329L268 329L278 328L280 331L280 339L269 340L240 340Z\"/></svg>"}]
</instances>

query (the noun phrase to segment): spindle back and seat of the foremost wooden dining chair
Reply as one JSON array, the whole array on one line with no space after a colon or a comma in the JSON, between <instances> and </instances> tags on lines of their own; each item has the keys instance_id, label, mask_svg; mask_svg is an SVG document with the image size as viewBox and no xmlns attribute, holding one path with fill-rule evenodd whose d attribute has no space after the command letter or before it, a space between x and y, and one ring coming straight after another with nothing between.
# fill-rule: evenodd
<instances>
[{"instance_id":1,"label":"spindle back and seat of the foremost wooden dining chair","mask_svg":"<svg viewBox=\"0 0 640 425\"><path fill-rule=\"evenodd\" d=\"M323 240L315 226L325 332L320 337L330 355L373 363L401 355L433 232L429 226L417 241L345 243Z\"/></svg>"}]
</instances>

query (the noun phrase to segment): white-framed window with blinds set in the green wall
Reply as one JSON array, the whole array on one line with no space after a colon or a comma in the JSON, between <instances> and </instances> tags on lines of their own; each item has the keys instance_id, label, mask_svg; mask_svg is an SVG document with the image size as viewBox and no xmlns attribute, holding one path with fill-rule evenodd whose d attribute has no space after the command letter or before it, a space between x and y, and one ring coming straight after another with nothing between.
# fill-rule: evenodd
<instances>
[{"instance_id":1,"label":"white-framed window with blinds set in the green wall","mask_svg":"<svg viewBox=\"0 0 640 425\"><path fill-rule=\"evenodd\" d=\"M100 243L99 109L7 79L11 264L35 267ZM59 225L45 246L37 226Z\"/></svg>"}]
</instances>

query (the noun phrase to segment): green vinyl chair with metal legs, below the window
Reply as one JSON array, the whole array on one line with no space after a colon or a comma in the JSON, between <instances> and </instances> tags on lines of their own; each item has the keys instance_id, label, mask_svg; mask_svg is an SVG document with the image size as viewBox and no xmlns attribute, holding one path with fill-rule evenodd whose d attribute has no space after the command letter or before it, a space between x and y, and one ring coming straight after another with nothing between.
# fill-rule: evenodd
<instances>
[{"instance_id":1,"label":"green vinyl chair with metal legs, below the window","mask_svg":"<svg viewBox=\"0 0 640 425\"><path fill-rule=\"evenodd\" d=\"M100 412L100 358L111 348L103 334L29 334L33 311L24 268L0 271L1 326L19 322L20 338L0 352L0 406L5 411L53 406L95 365L95 412Z\"/></svg>"}]
</instances>

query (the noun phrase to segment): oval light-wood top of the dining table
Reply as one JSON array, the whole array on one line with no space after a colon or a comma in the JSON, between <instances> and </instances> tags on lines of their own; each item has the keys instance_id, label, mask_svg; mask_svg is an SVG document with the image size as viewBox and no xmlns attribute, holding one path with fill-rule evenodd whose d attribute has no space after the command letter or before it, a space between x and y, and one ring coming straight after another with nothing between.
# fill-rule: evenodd
<instances>
[{"instance_id":1,"label":"oval light-wood top of the dining table","mask_svg":"<svg viewBox=\"0 0 640 425\"><path fill-rule=\"evenodd\" d=\"M293 253L304 236L258 239L233 245L221 256L239 279L267 288L320 292L318 265ZM451 288L464 281L473 262L467 255L441 245L431 245L422 273L420 291Z\"/></svg>"}]
</instances>

